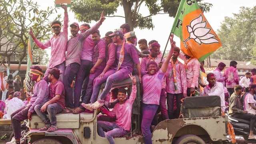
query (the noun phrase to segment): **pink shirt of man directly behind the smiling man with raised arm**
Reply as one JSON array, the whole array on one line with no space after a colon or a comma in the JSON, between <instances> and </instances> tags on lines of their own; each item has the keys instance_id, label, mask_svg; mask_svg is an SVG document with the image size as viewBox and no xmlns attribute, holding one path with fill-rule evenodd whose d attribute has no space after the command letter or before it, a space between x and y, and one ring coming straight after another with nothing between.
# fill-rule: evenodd
<instances>
[{"instance_id":1,"label":"pink shirt of man directly behind the smiling man with raised arm","mask_svg":"<svg viewBox=\"0 0 256 144\"><path fill-rule=\"evenodd\" d=\"M159 64L161 61L162 56L157 55L156 58L154 58L154 61L156 62L156 64ZM141 73L142 74L148 74L148 62L153 61L153 59L150 59L149 57L144 57L141 60L140 63L140 68L141 68ZM162 62L164 63L164 58L162 60ZM161 88L165 88L165 81L162 82Z\"/></svg>"}]
</instances>

